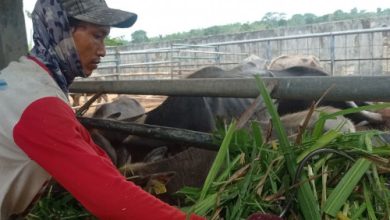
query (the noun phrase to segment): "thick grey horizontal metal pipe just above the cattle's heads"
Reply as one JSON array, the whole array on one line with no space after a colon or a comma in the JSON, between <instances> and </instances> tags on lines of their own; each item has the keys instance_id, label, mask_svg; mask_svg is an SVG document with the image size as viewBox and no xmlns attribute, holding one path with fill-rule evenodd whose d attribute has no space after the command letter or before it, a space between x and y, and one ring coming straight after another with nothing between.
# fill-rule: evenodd
<instances>
[{"instance_id":1,"label":"thick grey horizontal metal pipe just above the cattle's heads","mask_svg":"<svg viewBox=\"0 0 390 220\"><path fill-rule=\"evenodd\" d=\"M275 85L273 98L315 100L332 87L326 100L390 101L389 76L275 77L263 78ZM251 78L176 79L129 81L79 81L71 92L145 95L249 97L259 95Z\"/></svg>"}]
</instances>

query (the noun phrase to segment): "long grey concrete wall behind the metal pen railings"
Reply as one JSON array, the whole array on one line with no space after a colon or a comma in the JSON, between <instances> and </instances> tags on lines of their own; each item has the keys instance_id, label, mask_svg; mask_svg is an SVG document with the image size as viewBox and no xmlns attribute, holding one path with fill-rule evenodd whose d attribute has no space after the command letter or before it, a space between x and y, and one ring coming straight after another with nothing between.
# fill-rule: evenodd
<instances>
[{"instance_id":1,"label":"long grey concrete wall behind the metal pen railings","mask_svg":"<svg viewBox=\"0 0 390 220\"><path fill-rule=\"evenodd\" d=\"M332 49L331 38L311 37L292 40L270 40L265 42L252 43L234 43L222 45L224 42L245 41L251 39L277 38L282 36L308 35L328 32L339 32L347 30L361 30L371 28L383 28L390 24L390 17L377 17L357 20L346 20L332 23L321 23L301 27L287 27L271 30L262 30L255 32L245 32L237 34L228 34L220 36L211 36L203 38L190 38L178 40L175 42L161 42L152 44L132 44L117 48L120 52L150 50L155 48L170 48L172 44L214 44L215 48L197 48L202 51L219 51L236 55L222 55L216 57L213 54L188 53L186 50L178 52L153 52L153 53L130 53L118 56L108 55L107 59L118 59L119 64L147 63L147 62L178 62L174 65L162 68L161 65L139 65L131 68L120 68L120 73L129 72L160 72L175 71L178 68L192 69L211 64L221 64L226 68L232 65L229 63L238 63L248 54L255 54L264 59L272 59L282 54L310 54L319 57L322 65L335 75L376 75L390 74L390 35L389 32L377 32L369 34L352 34L334 37L334 48ZM115 51L115 48L110 49ZM190 48L190 50L195 50ZM333 52L332 52L333 50ZM335 63L331 65L332 53L335 54ZM193 56L193 59L175 59L174 57ZM209 59L202 59L209 57ZM347 61L348 60L348 61ZM354 61L352 61L354 60ZM115 63L111 63L113 65ZM233 64L234 65L234 64ZM165 66L168 66L166 64ZM99 69L99 73L115 73L115 68Z\"/></svg>"}]
</instances>

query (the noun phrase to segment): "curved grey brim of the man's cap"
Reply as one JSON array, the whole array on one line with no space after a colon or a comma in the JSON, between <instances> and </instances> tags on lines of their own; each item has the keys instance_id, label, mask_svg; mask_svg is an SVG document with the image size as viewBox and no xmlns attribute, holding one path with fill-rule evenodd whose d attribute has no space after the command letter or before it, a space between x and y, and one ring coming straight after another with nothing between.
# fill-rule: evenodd
<instances>
[{"instance_id":1,"label":"curved grey brim of the man's cap","mask_svg":"<svg viewBox=\"0 0 390 220\"><path fill-rule=\"evenodd\" d=\"M82 15L76 15L74 18L93 24L117 28L131 27L137 21L136 14L112 8L97 9Z\"/></svg>"}]
</instances>

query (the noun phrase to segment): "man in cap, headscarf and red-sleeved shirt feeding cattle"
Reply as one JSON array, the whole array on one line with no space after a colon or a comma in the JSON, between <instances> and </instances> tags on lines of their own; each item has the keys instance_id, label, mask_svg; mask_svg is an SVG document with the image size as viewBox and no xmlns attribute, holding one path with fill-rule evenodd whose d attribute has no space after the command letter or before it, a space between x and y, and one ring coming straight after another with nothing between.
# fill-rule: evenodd
<instances>
[{"instance_id":1,"label":"man in cap, headscarf and red-sleeved shirt feeding cattle","mask_svg":"<svg viewBox=\"0 0 390 220\"><path fill-rule=\"evenodd\" d=\"M99 219L185 219L126 181L66 98L105 55L110 26L137 16L104 0L39 0L32 19L34 48L0 72L0 220L24 213L51 178Z\"/></svg>"}]
</instances>

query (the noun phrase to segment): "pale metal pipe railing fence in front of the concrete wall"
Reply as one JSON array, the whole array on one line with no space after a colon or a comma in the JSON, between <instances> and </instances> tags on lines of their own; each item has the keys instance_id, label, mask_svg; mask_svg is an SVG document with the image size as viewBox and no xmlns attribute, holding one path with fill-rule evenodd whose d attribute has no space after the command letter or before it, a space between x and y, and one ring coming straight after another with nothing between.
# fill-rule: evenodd
<instances>
[{"instance_id":1,"label":"pale metal pipe railing fence in front of the concrete wall","mask_svg":"<svg viewBox=\"0 0 390 220\"><path fill-rule=\"evenodd\" d=\"M137 51L108 48L97 75L120 74L118 79L180 78L209 65L231 68L250 54L265 60L283 54L315 55L332 75L389 75L389 36L390 28L385 27L202 45L172 44Z\"/></svg>"}]
</instances>

